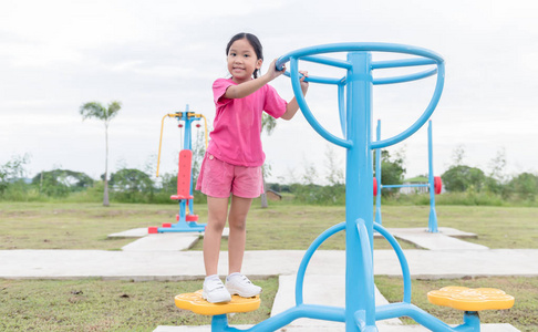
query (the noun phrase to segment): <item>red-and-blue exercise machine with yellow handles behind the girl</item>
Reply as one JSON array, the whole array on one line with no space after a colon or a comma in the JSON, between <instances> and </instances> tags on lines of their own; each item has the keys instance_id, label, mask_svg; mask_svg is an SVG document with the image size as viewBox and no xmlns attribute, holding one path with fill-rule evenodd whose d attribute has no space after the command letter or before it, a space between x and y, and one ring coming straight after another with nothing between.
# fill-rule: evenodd
<instances>
[{"instance_id":1,"label":"red-and-blue exercise machine with yellow handles behind the girl","mask_svg":"<svg viewBox=\"0 0 538 332\"><path fill-rule=\"evenodd\" d=\"M177 200L179 204L179 212L176 215L176 224L163 224L162 227L148 227L148 234L158 232L186 232L186 231L204 231L206 224L198 224L198 216L194 214L193 208L193 134L192 124L195 121L204 118L205 136L207 146L207 120L203 114L189 112L188 104L185 112L176 112L166 114L161 121L161 138L158 142L158 157L157 157L157 177L161 164L161 147L163 143L163 127L166 117L175 117L178 122L178 127L185 127L183 149L179 152L179 163L177 172L177 194L170 196L170 199ZM196 126L200 126L197 124Z\"/></svg>"}]
</instances>

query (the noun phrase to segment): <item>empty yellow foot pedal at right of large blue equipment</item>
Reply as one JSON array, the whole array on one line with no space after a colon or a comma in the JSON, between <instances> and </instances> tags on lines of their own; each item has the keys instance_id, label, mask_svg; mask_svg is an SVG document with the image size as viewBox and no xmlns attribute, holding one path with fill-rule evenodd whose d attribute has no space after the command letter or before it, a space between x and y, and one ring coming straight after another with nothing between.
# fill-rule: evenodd
<instances>
[{"instance_id":1,"label":"empty yellow foot pedal at right of large blue equipment","mask_svg":"<svg viewBox=\"0 0 538 332\"><path fill-rule=\"evenodd\" d=\"M495 288L449 286L427 293L430 302L464 311L510 309L515 299Z\"/></svg>"}]
</instances>

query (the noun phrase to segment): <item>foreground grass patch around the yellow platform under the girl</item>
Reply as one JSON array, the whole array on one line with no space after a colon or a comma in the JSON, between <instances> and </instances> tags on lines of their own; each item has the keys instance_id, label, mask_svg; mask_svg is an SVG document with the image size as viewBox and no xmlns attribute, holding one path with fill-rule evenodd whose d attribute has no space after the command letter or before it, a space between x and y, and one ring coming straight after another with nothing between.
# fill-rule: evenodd
<instances>
[{"instance_id":1,"label":"foreground grass patch around the yellow platform under the girl","mask_svg":"<svg viewBox=\"0 0 538 332\"><path fill-rule=\"evenodd\" d=\"M269 318L277 278L256 283L263 288L260 309L235 314L230 323ZM210 317L174 304L175 295L200 287L200 281L0 279L0 331L153 331L157 325L210 324Z\"/></svg>"}]
</instances>

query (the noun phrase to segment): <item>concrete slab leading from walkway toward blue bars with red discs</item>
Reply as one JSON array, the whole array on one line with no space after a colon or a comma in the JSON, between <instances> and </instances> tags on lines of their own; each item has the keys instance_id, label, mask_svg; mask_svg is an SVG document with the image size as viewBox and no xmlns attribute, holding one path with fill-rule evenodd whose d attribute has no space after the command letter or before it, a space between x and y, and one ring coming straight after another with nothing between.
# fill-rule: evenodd
<instances>
[{"instance_id":1,"label":"concrete slab leading from walkway toward blue bars with red discs","mask_svg":"<svg viewBox=\"0 0 538 332\"><path fill-rule=\"evenodd\" d=\"M442 232L428 232L425 228L391 228L389 231L399 239L410 241L430 250L487 250L488 247L463 241Z\"/></svg>"}]
</instances>

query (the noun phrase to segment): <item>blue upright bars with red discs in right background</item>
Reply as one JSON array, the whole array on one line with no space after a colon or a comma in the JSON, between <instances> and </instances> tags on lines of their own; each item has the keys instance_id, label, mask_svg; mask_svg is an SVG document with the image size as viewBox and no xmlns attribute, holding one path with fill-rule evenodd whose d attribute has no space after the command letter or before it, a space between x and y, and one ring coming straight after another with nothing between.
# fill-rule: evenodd
<instances>
[{"instance_id":1,"label":"blue upright bars with red discs in right background","mask_svg":"<svg viewBox=\"0 0 538 332\"><path fill-rule=\"evenodd\" d=\"M381 141L381 120L377 120L377 141ZM375 178L374 178L374 196L375 196L375 222L383 224L381 219L381 189L383 188L404 188L404 187L428 187L430 188L430 219L427 222L427 231L438 232L437 230L437 214L435 212L435 195L441 194L443 181L439 176L434 176L433 173L433 147L432 147L432 121L427 125L427 163L428 163L428 180L427 184L408 184L408 185L383 185L381 183L381 148L375 149Z\"/></svg>"}]
</instances>

